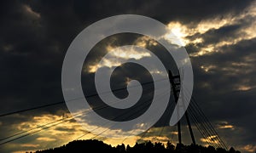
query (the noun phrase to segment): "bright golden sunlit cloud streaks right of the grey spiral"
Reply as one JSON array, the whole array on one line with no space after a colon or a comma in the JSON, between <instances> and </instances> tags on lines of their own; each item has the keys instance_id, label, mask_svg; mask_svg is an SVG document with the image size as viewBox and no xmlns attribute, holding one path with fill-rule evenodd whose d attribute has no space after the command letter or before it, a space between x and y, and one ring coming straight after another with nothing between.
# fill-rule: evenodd
<instances>
[{"instance_id":1,"label":"bright golden sunlit cloud streaks right of the grey spiral","mask_svg":"<svg viewBox=\"0 0 256 153\"><path fill-rule=\"evenodd\" d=\"M172 39L172 33L179 40L178 42L182 46L193 44L201 44L204 42L203 35L208 31L218 30L225 26L236 26L241 24L241 21L245 18L251 18L252 20L246 25L242 26L236 31L236 37L230 39L221 40L220 42L209 43L206 46L201 45L198 51L190 54L192 57L203 56L212 53L224 52L221 48L224 46L234 45L237 42L243 40L249 40L256 37L256 3L247 8L246 11L241 14L233 16L232 14L225 14L224 16L216 16L211 20L201 20L201 22L194 24L183 25L179 21L172 21L168 24L170 33L166 33L166 39ZM178 43L177 42L177 43Z\"/></svg>"}]
</instances>

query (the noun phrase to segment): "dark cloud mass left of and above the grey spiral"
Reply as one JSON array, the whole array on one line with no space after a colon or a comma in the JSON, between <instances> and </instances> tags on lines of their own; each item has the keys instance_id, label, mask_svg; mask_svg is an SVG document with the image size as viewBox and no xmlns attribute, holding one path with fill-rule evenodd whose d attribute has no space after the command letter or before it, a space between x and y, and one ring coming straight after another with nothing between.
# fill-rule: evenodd
<instances>
[{"instance_id":1,"label":"dark cloud mass left of and above the grey spiral","mask_svg":"<svg viewBox=\"0 0 256 153\"><path fill-rule=\"evenodd\" d=\"M137 3L135 1L63 1L3 3L1 16L1 63L3 67L3 111L61 100L61 62L68 45L85 26L114 14L145 14L163 18L201 19L202 15L236 12L248 2L185 1ZM166 7L168 6L168 8ZM177 7L179 6L179 7ZM219 6L223 6L219 8ZM115 8L115 9L113 9ZM196 8L196 9L195 9ZM217 9L218 8L218 9ZM191 16L190 16L191 15ZM170 18L171 16L171 18ZM9 48L4 51L4 48ZM19 66L18 66L19 65ZM8 78L5 78L7 77ZM33 102L32 102L33 101ZM27 104L27 105L26 105Z\"/></svg>"}]
</instances>

